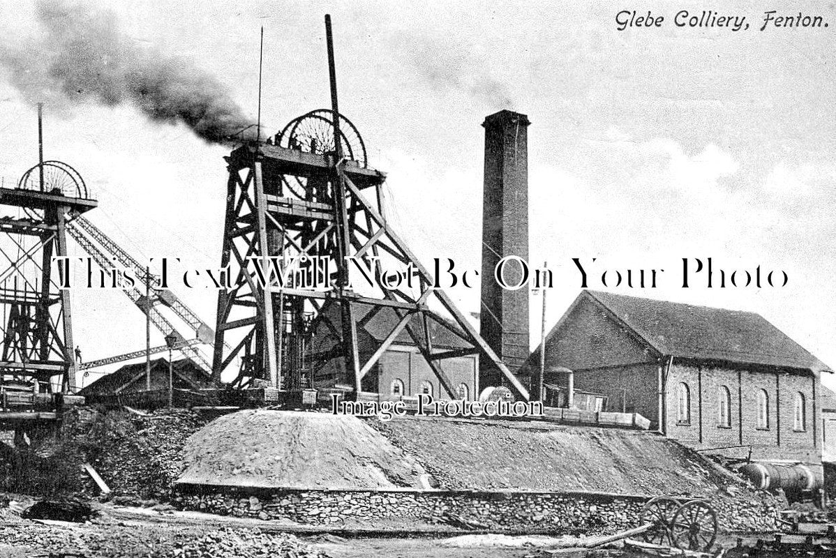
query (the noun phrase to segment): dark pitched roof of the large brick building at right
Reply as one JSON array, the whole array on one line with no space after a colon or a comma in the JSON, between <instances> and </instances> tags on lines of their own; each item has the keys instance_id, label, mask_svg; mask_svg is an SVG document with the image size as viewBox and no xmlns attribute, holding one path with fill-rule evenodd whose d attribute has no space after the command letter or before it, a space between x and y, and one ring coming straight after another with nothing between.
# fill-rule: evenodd
<instances>
[{"instance_id":1,"label":"dark pitched roof of the large brick building at right","mask_svg":"<svg viewBox=\"0 0 836 558\"><path fill-rule=\"evenodd\" d=\"M808 368L815 372L828 370L818 358L755 312L599 291L581 292L576 302L582 297L604 307L661 355Z\"/></svg>"}]
</instances>

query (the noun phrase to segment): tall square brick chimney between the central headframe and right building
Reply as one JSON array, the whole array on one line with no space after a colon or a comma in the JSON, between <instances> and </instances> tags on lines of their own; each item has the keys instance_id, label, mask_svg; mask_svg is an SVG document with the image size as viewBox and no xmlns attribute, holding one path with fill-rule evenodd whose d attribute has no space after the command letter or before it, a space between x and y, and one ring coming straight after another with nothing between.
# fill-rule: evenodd
<instances>
[{"instance_id":1,"label":"tall square brick chimney between the central headframe and right building","mask_svg":"<svg viewBox=\"0 0 836 558\"><path fill-rule=\"evenodd\" d=\"M485 128L485 185L482 207L482 308L479 328L511 372L528 358L528 287L511 291L494 278L504 256L528 261L528 116L510 110L491 114ZM510 262L503 277L515 285L520 266ZM500 385L502 375L480 365L482 388Z\"/></svg>"}]
</instances>

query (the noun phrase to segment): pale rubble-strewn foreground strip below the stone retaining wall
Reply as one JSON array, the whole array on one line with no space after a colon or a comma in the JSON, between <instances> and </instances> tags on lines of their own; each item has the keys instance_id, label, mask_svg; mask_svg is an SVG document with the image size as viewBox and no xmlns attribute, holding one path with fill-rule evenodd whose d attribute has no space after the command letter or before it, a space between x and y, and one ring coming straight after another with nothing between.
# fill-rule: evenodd
<instances>
[{"instance_id":1,"label":"pale rubble-strewn foreground strip below the stone retaining wall","mask_svg":"<svg viewBox=\"0 0 836 558\"><path fill-rule=\"evenodd\" d=\"M18 502L19 504L19 502ZM99 516L84 524L23 520L0 510L0 556L4 558L534 558L545 549L577 546L581 540L505 535L346 538L303 525L212 517L171 510L97 505ZM293 535L282 529L302 530ZM594 556L624 555L617 549Z\"/></svg>"}]
</instances>

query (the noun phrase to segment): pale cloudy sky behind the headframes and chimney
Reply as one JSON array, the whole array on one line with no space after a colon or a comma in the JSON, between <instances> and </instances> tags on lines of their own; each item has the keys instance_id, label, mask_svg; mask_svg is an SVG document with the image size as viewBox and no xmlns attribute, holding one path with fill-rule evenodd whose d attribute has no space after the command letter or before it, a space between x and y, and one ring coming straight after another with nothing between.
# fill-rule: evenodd
<instances>
[{"instance_id":1,"label":"pale cloudy sky behind the headframes and chimney","mask_svg":"<svg viewBox=\"0 0 836 558\"><path fill-rule=\"evenodd\" d=\"M571 258L595 257L599 273L665 269L660 287L617 292L759 312L836 366L836 26L760 32L754 3L725 3L724 14L752 22L738 33L676 28L678 10L701 12L691 3L637 4L640 15L650 10L665 23L625 31L616 29L617 9L591 2L87 4L89 21L118 28L129 52L178 57L182 73L214 76L211 89L248 119L263 25L263 121L277 131L329 104L323 15L331 13L340 109L363 135L370 164L389 173L391 219L422 259L479 267L480 124L514 109L533 123L531 260L548 261L558 275L548 322L579 292ZM48 64L60 41L91 33L65 25L44 45L35 8L0 3L7 60L25 45L34 53L28 62ZM836 20L826 4L808 13ZM84 175L100 203L91 221L138 258L217 266L226 148L181 124L152 122L130 102L68 100L22 88L20 68L0 74L7 185L37 162L40 96L48 102L46 157ZM760 265L786 271L788 285L709 289L697 280L682 289L681 258L709 256L716 273ZM180 294L214 320L213 292ZM478 311L477 291L451 295ZM144 320L123 295L73 297L85 359L142 347ZM533 295L533 343L539 304Z\"/></svg>"}]
</instances>

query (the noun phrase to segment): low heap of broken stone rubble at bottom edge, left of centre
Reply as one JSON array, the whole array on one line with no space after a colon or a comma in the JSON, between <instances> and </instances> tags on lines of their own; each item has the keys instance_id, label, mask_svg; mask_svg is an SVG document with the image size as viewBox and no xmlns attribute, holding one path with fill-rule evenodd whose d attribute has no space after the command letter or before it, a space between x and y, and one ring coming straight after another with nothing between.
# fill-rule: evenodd
<instances>
[{"instance_id":1,"label":"low heap of broken stone rubble at bottom edge, left of centre","mask_svg":"<svg viewBox=\"0 0 836 558\"><path fill-rule=\"evenodd\" d=\"M177 544L164 558L328 558L288 533L225 528L197 540Z\"/></svg>"}]
</instances>

